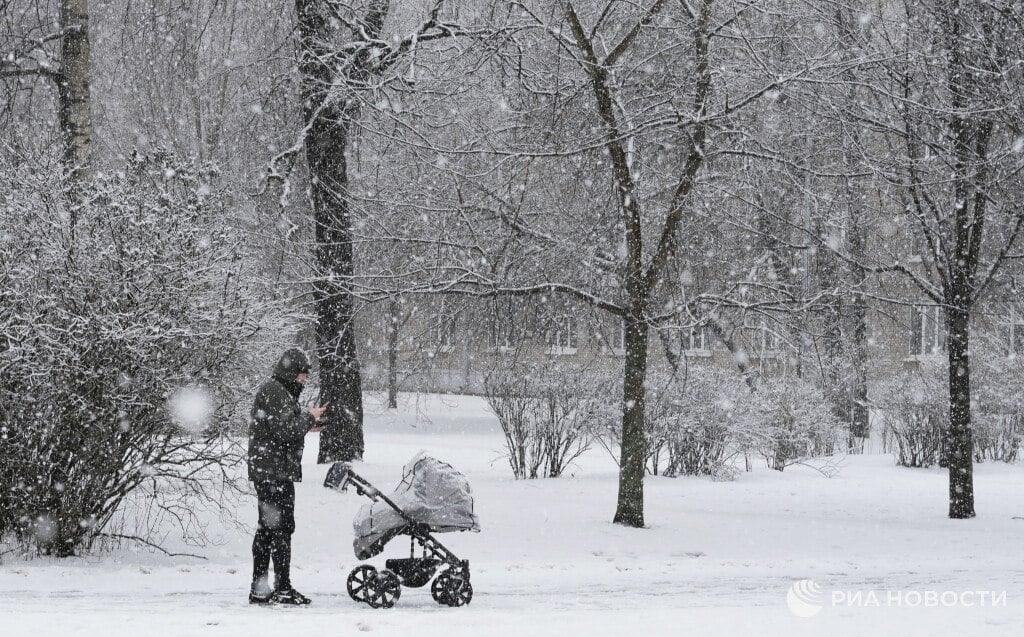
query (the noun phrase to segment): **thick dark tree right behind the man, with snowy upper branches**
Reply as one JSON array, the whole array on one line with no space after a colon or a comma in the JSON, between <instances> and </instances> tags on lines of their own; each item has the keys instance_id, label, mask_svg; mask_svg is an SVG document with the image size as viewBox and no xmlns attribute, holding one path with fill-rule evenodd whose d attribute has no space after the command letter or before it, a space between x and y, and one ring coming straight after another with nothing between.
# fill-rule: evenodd
<instances>
[{"instance_id":1,"label":"thick dark tree right behind the man, with snowy upper branches","mask_svg":"<svg viewBox=\"0 0 1024 637\"><path fill-rule=\"evenodd\" d=\"M318 277L316 336L322 394L329 405L318 462L362 456L362 396L356 357L353 219L346 152L366 95L393 81L388 71L419 43L458 35L438 20L438 1L411 35L382 38L391 3L296 0L305 127Z\"/></svg>"}]
</instances>

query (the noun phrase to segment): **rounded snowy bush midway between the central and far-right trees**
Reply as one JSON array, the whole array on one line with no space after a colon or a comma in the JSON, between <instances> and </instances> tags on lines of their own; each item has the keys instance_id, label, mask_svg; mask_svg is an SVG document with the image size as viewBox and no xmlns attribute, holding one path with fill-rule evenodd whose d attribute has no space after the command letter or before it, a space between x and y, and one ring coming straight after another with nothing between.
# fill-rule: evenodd
<instances>
[{"instance_id":1,"label":"rounded snowy bush midway between the central and far-right trees","mask_svg":"<svg viewBox=\"0 0 1024 637\"><path fill-rule=\"evenodd\" d=\"M845 449L846 427L824 392L805 379L765 379L751 394L745 418L740 444L758 451L776 471Z\"/></svg>"}]
</instances>

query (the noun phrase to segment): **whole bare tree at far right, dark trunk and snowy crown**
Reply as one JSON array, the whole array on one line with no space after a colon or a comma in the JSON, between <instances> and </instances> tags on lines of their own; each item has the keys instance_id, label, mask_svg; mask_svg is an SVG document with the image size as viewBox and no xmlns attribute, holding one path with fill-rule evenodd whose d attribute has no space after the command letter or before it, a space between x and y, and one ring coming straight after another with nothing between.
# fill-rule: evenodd
<instances>
[{"instance_id":1,"label":"whole bare tree at far right, dark trunk and snowy crown","mask_svg":"<svg viewBox=\"0 0 1024 637\"><path fill-rule=\"evenodd\" d=\"M903 209L921 267L895 257L895 271L942 308L949 422L949 517L975 515L971 415L971 320L990 292L1024 225L1024 162L1015 152L1024 116L1018 2L880 3L860 46L868 61L855 84L866 98L854 121L880 143L865 153ZM1019 143L1019 142L1017 142ZM909 246L903 249L909 252Z\"/></svg>"}]
</instances>

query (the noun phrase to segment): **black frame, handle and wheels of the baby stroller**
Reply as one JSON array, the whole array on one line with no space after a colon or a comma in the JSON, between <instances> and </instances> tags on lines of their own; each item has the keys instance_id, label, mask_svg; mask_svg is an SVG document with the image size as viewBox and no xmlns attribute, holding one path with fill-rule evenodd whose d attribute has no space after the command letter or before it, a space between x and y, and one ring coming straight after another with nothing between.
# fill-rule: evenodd
<instances>
[{"instance_id":1,"label":"black frame, handle and wheels of the baby stroller","mask_svg":"<svg viewBox=\"0 0 1024 637\"><path fill-rule=\"evenodd\" d=\"M469 560L459 557L437 541L430 533L430 526L413 519L393 500L385 496L369 480L352 471L348 463L341 465L344 471L338 491L347 492L351 484L355 493L372 501L383 501L391 507L409 525L397 535L410 537L410 556L388 559L385 568L377 570L371 564L359 564L348 575L346 588L348 595L356 602L364 602L374 608L390 608L401 596L401 587L420 588L431 580L430 594L434 601L445 606L464 606L473 599L470 584ZM385 541L385 544L390 539ZM422 556L416 556L416 546ZM434 575L440 568L440 574Z\"/></svg>"}]
</instances>

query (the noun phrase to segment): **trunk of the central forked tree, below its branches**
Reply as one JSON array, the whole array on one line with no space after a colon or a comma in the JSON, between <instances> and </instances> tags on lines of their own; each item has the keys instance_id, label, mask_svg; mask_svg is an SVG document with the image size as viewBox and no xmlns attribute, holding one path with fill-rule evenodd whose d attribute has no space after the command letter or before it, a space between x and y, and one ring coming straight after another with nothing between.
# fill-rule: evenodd
<instances>
[{"instance_id":1,"label":"trunk of the central forked tree, below its branches","mask_svg":"<svg viewBox=\"0 0 1024 637\"><path fill-rule=\"evenodd\" d=\"M643 475L647 457L644 412L649 327L643 313L626 317L626 369L623 383L623 439L618 461L616 524L641 527L643 521Z\"/></svg>"}]
</instances>

